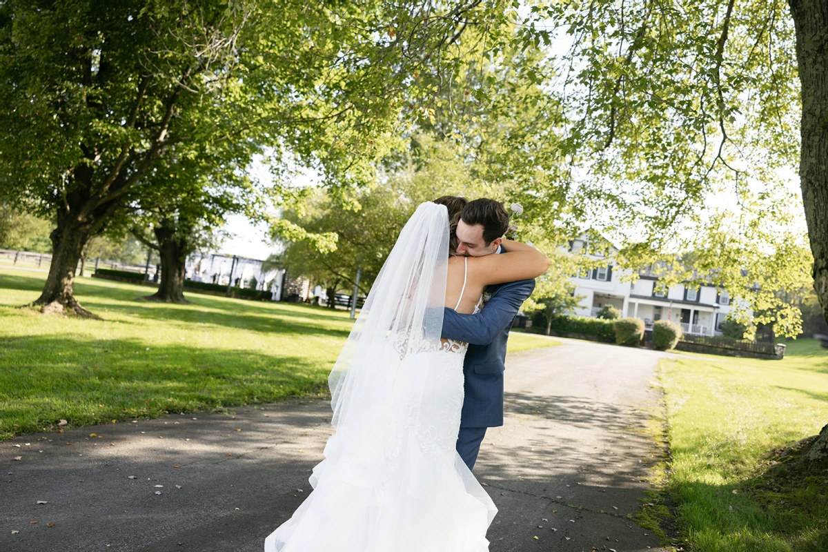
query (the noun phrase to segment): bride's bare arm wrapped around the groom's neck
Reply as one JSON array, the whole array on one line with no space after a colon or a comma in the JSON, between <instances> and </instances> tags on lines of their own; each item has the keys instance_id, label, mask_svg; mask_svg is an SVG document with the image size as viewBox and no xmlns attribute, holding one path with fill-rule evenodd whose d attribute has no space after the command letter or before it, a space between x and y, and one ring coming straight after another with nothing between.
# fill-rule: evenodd
<instances>
[{"instance_id":1,"label":"bride's bare arm wrapped around the groom's neck","mask_svg":"<svg viewBox=\"0 0 828 552\"><path fill-rule=\"evenodd\" d=\"M504 253L469 257L469 274L484 286L510 281L531 280L549 268L550 261L531 245L503 240Z\"/></svg>"}]
</instances>

